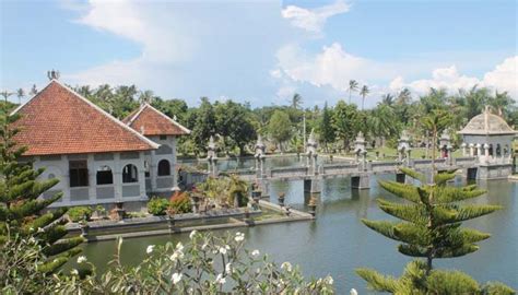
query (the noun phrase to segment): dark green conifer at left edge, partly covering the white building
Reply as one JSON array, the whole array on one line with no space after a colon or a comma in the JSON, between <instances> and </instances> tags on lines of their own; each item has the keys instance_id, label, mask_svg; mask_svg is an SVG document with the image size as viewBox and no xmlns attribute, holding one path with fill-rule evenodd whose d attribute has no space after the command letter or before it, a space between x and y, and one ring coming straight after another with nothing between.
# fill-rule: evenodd
<instances>
[{"instance_id":1,"label":"dark green conifer at left edge, partly covering the white building","mask_svg":"<svg viewBox=\"0 0 518 295\"><path fill-rule=\"evenodd\" d=\"M4 102L0 110L0 246L12 237L34 238L47 257L47 261L40 263L38 270L52 273L81 251L78 245L83 238L63 238L67 229L61 217L67 209L42 213L61 198L62 193L56 193L47 199L38 197L59 180L39 181L37 178L45 169L34 169L31 163L22 162L26 148L19 146L13 141L19 130L12 128L19 116L10 115L9 94L2 93L2 96Z\"/></svg>"}]
</instances>

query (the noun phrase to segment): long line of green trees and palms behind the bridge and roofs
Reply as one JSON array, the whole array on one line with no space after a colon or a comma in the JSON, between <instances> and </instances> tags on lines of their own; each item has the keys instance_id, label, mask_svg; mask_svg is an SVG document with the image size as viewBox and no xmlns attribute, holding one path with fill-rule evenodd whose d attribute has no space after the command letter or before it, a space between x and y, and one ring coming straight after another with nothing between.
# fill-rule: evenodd
<instances>
[{"instance_id":1,"label":"long line of green trees and palms behind the bridge and roofs","mask_svg":"<svg viewBox=\"0 0 518 295\"><path fill-rule=\"evenodd\" d=\"M372 145L395 148L402 130L407 130L416 142L428 142L429 132L421 118L433 109L445 109L452 115L449 126L454 142L455 131L471 118L481 114L485 106L504 117L510 126L518 125L518 106L506 92L492 92L473 86L449 94L446 90L431 88L424 95L403 88L387 93L370 109L364 109L370 91L354 80L349 83L349 97L339 99L333 106L325 104L303 107L303 96L294 94L284 105L251 107L250 103L233 99L211 102L201 97L198 106L189 106L181 98L165 99L152 91L139 91L136 85L98 87L87 85L73 87L115 117L122 119L141 103L149 103L192 131L181 139L179 152L186 155L203 155L210 137L217 141L220 152L228 155L254 153L258 134L268 142L269 152L303 152L304 139L315 130L326 152L348 152L361 131ZM361 107L351 103L352 94L362 97ZM33 86L31 94L37 93ZM21 102L22 90L16 92Z\"/></svg>"}]
</instances>

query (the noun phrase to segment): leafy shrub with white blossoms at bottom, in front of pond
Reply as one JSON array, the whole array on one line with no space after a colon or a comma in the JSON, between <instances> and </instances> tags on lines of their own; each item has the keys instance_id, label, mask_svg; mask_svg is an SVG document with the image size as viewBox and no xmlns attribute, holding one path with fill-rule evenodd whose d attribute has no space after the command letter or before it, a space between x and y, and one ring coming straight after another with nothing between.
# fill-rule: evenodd
<instances>
[{"instance_id":1,"label":"leafy shrub with white blossoms at bottom, in front of pond","mask_svg":"<svg viewBox=\"0 0 518 295\"><path fill-rule=\"evenodd\" d=\"M136 267L120 262L120 247L111 267L102 276L95 271L57 278L56 293L102 294L333 294L333 280L306 280L298 267L278 267L259 250L245 249L245 234L223 237L192 232L186 245L167 243L146 247L148 257ZM83 264L87 260L81 258ZM91 264L92 266L92 264ZM93 266L92 266L93 268Z\"/></svg>"}]
</instances>

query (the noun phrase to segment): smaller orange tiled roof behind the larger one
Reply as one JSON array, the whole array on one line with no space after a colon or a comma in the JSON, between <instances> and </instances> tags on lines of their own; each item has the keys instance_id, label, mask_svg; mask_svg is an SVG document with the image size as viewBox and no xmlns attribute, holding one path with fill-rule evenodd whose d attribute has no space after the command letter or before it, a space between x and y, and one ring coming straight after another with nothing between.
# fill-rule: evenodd
<instances>
[{"instance_id":1,"label":"smaller orange tiled roof behind the larger one","mask_svg":"<svg viewBox=\"0 0 518 295\"><path fill-rule=\"evenodd\" d=\"M150 104L143 104L122 121L144 135L185 135L190 133L189 129Z\"/></svg>"}]
</instances>

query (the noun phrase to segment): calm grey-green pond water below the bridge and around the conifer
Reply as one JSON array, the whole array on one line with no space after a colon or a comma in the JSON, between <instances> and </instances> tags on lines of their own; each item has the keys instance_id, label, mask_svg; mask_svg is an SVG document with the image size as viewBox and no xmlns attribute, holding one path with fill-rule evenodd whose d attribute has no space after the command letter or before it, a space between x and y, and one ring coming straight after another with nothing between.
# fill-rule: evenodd
<instances>
[{"instance_id":1,"label":"calm grey-green pond water below the bridge and around the conifer","mask_svg":"<svg viewBox=\"0 0 518 295\"><path fill-rule=\"evenodd\" d=\"M377 176L395 179L393 175ZM339 294L351 287L365 293L366 284L354 273L360 267L374 268L382 273L400 275L411 258L399 253L397 243L368 229L361 219L389 220L377 206L376 199L397 198L384 191L372 179L368 190L351 190L349 179L329 179L318 198L317 220L275 225L239 228L247 237L247 247L270 253L278 262L299 264L307 276L334 278ZM460 177L456 185L462 185ZM479 186L488 192L475 203L501 204L503 210L466 222L464 226L492 234L479 243L480 250L456 259L435 260L435 267L457 269L472 275L479 282L501 281L518 288L518 182L507 180L481 181ZM309 196L304 193L303 181L275 181L270 186L271 201L276 202L280 192L286 193L285 202L293 208L307 210ZM224 234L225 232L214 232ZM148 245L166 241L186 241L188 234L126 239L122 260L138 263L145 257ZM115 253L115 241L84 245L84 255L98 268L104 269Z\"/></svg>"}]
</instances>

